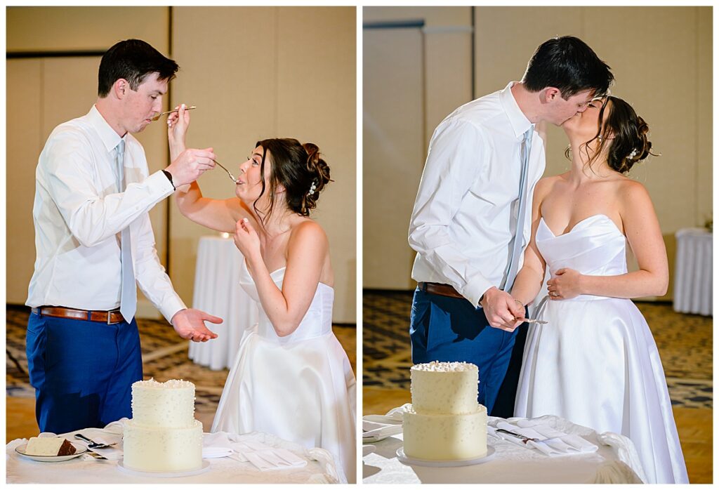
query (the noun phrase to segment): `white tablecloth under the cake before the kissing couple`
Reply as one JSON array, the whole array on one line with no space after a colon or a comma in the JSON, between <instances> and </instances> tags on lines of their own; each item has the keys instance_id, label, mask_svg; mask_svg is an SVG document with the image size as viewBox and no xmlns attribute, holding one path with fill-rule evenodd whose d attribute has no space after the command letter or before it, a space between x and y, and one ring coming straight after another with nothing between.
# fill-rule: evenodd
<instances>
[{"instance_id":1,"label":"white tablecloth under the cake before the kissing couple","mask_svg":"<svg viewBox=\"0 0 719 490\"><path fill-rule=\"evenodd\" d=\"M497 419L490 417L490 422L494 420ZM510 419L510 422L516 420ZM395 454L402 446L402 435L399 434L371 443L377 450L362 458L362 481L365 484L641 483L638 476L643 474L641 463L628 438L613 433L598 435L592 429L554 415L536 420L565 433L582 435L590 443L598 445L599 450L596 453L550 458L539 450L487 437L487 444L493 446L496 452L494 458L485 463L451 468L406 466L398 461Z\"/></svg>"}]
</instances>

